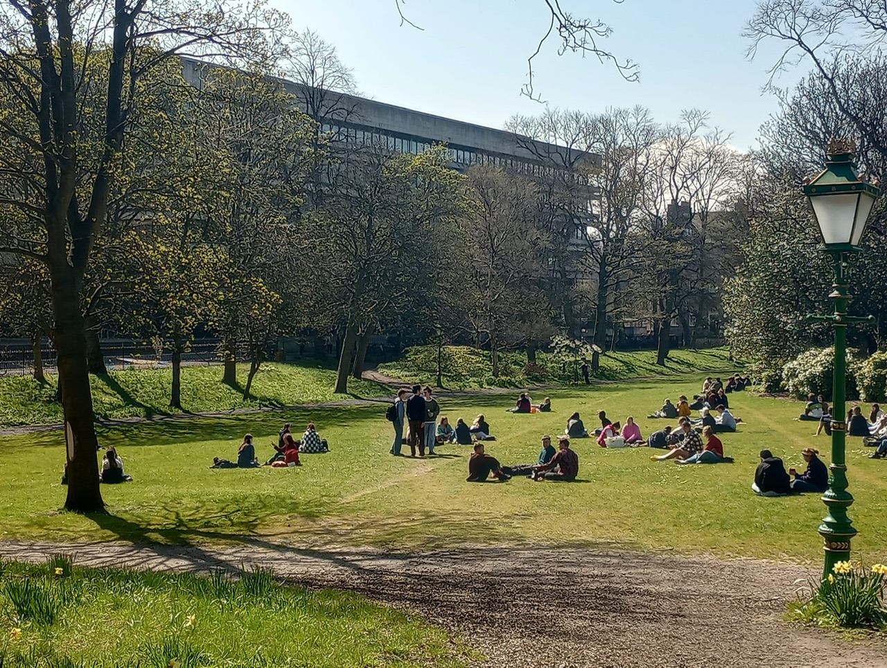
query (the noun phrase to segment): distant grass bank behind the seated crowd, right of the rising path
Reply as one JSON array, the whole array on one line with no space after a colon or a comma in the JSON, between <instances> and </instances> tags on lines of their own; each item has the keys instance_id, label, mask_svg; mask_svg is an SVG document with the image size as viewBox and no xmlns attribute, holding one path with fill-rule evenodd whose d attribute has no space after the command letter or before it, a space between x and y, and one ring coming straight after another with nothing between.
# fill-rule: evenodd
<instances>
[{"instance_id":1,"label":"distant grass bank behind the seated crowd, right of the rising path","mask_svg":"<svg viewBox=\"0 0 887 668\"><path fill-rule=\"evenodd\" d=\"M537 366L526 368L523 353L503 353L499 360L499 376L491 374L490 352L468 346L446 346L441 358L443 386L453 389L519 388L546 383L581 383L580 362L538 352ZM656 363L655 350L607 352L600 356L600 369L593 378L602 381L624 381L631 378L669 375L675 373L728 373L738 365L730 360L729 350L672 350L665 365ZM437 349L434 346L414 346L403 358L379 366L382 373L405 381L433 383L437 373Z\"/></svg>"}]
</instances>

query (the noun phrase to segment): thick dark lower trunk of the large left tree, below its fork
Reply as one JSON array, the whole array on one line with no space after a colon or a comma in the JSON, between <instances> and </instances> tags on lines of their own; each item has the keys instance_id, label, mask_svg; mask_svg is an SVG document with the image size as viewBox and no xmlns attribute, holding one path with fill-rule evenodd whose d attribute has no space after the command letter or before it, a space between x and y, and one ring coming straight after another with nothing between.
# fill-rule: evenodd
<instances>
[{"instance_id":1,"label":"thick dark lower trunk of the large left tree, below its fork","mask_svg":"<svg viewBox=\"0 0 887 668\"><path fill-rule=\"evenodd\" d=\"M52 343L58 354L59 387L65 413L67 499L65 507L81 513L105 507L98 488L98 441L92 423L90 374L86 365L86 328L74 268L67 258L51 263Z\"/></svg>"}]
</instances>

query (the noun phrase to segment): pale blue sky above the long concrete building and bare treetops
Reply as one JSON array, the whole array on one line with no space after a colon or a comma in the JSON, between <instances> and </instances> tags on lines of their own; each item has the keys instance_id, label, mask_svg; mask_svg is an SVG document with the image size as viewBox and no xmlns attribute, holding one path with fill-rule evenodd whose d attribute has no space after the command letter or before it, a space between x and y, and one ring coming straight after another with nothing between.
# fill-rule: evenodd
<instances>
[{"instance_id":1,"label":"pale blue sky above the long concrete building and bare treetops","mask_svg":"<svg viewBox=\"0 0 887 668\"><path fill-rule=\"evenodd\" d=\"M494 128L513 114L538 114L521 97L526 59L550 14L543 0L406 0L404 12L422 30L401 26L395 0L272 0L294 27L312 28L334 43L369 98ZM614 29L606 47L640 65L640 83L577 54L558 57L546 43L534 61L536 90L550 106L600 112L648 106L661 122L681 109L710 112L732 144L757 144L757 129L775 110L762 87L778 45L754 61L742 28L755 0L561 0L577 16ZM802 70L782 75L789 86Z\"/></svg>"}]
</instances>

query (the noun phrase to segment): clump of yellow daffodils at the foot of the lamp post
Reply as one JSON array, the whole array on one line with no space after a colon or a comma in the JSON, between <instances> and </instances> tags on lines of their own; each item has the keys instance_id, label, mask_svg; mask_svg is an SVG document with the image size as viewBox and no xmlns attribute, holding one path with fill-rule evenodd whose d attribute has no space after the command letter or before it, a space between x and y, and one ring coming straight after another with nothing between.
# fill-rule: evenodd
<instances>
[{"instance_id":1,"label":"clump of yellow daffodils at the foot of the lamp post","mask_svg":"<svg viewBox=\"0 0 887 668\"><path fill-rule=\"evenodd\" d=\"M810 583L808 596L798 593L797 601L789 605L789 615L822 626L882 629L887 626L885 576L883 563L865 570L852 562L837 562L828 578Z\"/></svg>"}]
</instances>

